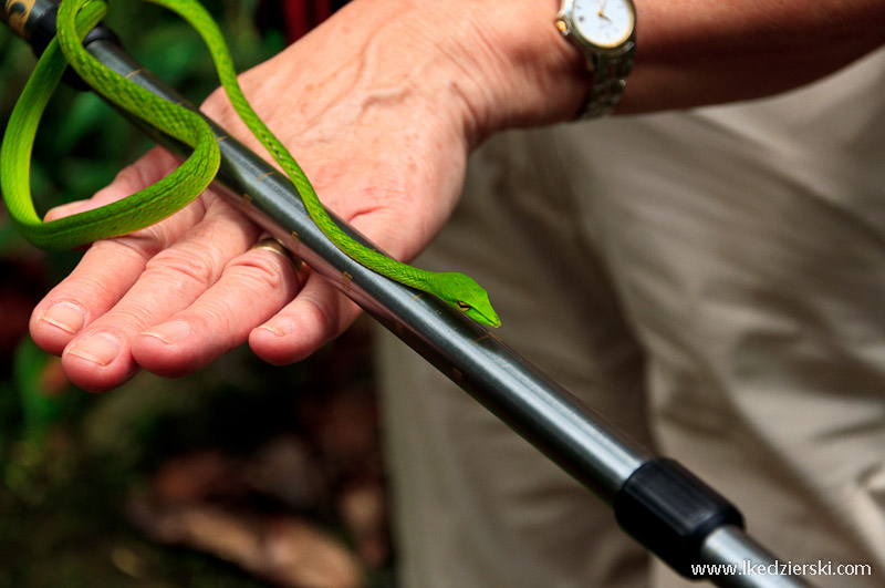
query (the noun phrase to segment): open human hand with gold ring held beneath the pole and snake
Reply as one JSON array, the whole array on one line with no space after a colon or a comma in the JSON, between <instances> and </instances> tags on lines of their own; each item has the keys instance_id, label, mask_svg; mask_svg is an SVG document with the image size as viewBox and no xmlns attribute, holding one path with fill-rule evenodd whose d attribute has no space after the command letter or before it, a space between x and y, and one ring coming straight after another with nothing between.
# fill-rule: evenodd
<instances>
[{"instance_id":1,"label":"open human hand with gold ring held beneath the pole and snake","mask_svg":"<svg viewBox=\"0 0 885 588\"><path fill-rule=\"evenodd\" d=\"M535 65L519 63L514 73L488 51L497 39L471 37L485 27L475 4L465 3L464 20L440 24L452 7L440 12L433 2L357 0L241 76L256 111L324 204L399 259L416 256L448 217L475 143L496 127L553 116L539 107L550 102L545 93L529 83L513 92L520 86L512 84L535 75ZM550 7L520 4L543 17L562 49L548 22ZM519 19L509 11L508 20ZM509 27L516 32L514 22ZM566 55L552 53L554 62L568 63ZM580 90L572 94L577 101ZM261 153L220 93L204 111ZM154 149L87 203L51 217L118 199L175 165ZM62 355L75 384L95 391L140 368L167 376L198 370L247 340L272 363L298 361L358 310L322 277L308 269L296 276L283 257L252 249L259 236L207 190L163 223L94 244L34 309L31 334Z\"/></svg>"}]
</instances>

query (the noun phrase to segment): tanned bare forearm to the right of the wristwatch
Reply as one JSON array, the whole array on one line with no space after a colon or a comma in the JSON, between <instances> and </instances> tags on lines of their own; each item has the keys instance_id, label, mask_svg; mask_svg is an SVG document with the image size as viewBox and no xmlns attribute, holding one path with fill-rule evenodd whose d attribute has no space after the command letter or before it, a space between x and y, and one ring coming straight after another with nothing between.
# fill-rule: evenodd
<instances>
[{"instance_id":1,"label":"tanned bare forearm to the right of the wristwatch","mask_svg":"<svg viewBox=\"0 0 885 588\"><path fill-rule=\"evenodd\" d=\"M775 94L885 42L882 0L635 0L637 55L618 112Z\"/></svg>"}]
</instances>

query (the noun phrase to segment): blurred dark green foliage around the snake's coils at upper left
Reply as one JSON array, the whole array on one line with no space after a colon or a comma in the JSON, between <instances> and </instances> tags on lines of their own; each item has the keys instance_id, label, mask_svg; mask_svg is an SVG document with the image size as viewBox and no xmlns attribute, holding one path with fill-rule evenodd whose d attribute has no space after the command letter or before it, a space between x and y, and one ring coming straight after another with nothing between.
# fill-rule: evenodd
<instances>
[{"instance_id":1,"label":"blurred dark green foliage around the snake's coils at upper left","mask_svg":"<svg viewBox=\"0 0 885 588\"><path fill-rule=\"evenodd\" d=\"M257 30L257 0L215 0L204 4L221 24L240 71L282 49L281 31L270 30L262 35ZM175 14L147 2L114 2L106 24L123 39L129 53L191 102L199 104L218 85L202 41ZM0 27L3 126L34 60L27 43ZM91 195L150 146L95 94L66 86L56 92L41 130L32 163L32 190L38 209ZM8 230L4 239L13 239Z\"/></svg>"}]
</instances>

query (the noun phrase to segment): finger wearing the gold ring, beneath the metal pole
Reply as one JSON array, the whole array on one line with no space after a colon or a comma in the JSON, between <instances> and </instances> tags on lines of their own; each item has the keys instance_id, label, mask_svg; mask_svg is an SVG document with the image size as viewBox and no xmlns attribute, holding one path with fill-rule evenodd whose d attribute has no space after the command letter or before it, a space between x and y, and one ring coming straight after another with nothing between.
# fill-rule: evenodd
<instances>
[{"instance_id":1,"label":"finger wearing the gold ring, beneath the metal pole","mask_svg":"<svg viewBox=\"0 0 885 588\"><path fill-rule=\"evenodd\" d=\"M133 357L143 368L170 378L205 368L292 300L308 274L306 266L288 255L249 249L192 305L142 332Z\"/></svg>"}]
</instances>

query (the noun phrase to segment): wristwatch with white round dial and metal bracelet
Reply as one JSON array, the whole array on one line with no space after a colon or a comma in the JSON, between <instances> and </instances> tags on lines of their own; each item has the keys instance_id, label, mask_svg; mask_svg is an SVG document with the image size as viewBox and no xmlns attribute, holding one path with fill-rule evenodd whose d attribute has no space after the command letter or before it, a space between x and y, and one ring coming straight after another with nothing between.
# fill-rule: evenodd
<instances>
[{"instance_id":1,"label":"wristwatch with white round dial and metal bracelet","mask_svg":"<svg viewBox=\"0 0 885 588\"><path fill-rule=\"evenodd\" d=\"M579 118L610 114L624 92L636 52L633 0L562 0L556 29L584 53L591 87Z\"/></svg>"}]
</instances>

